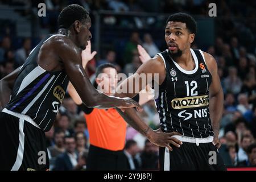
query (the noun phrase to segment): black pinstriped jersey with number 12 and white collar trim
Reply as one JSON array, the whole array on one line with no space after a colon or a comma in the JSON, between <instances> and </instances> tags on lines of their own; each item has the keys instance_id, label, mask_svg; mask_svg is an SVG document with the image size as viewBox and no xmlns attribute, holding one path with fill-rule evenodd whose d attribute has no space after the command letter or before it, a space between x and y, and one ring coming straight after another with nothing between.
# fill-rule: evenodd
<instances>
[{"instance_id":1,"label":"black pinstriped jersey with number 12 and white collar trim","mask_svg":"<svg viewBox=\"0 0 256 182\"><path fill-rule=\"evenodd\" d=\"M175 62L168 49L158 53L164 61L166 78L159 85L155 100L160 117L160 128L177 131L187 137L213 136L209 113L209 86L212 76L201 50L190 49L195 69L186 71Z\"/></svg>"}]
</instances>

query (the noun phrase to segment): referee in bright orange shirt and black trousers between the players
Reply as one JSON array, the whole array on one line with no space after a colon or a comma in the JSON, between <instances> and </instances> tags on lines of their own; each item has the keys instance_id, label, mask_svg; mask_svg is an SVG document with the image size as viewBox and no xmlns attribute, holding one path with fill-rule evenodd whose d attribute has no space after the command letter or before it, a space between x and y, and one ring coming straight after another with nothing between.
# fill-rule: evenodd
<instances>
[{"instance_id":1,"label":"referee in bright orange shirt and black trousers between the players","mask_svg":"<svg viewBox=\"0 0 256 182\"><path fill-rule=\"evenodd\" d=\"M101 74L103 73L103 74ZM101 64L96 70L97 85L104 85L101 92L111 96L117 86L117 71L113 64ZM89 154L86 162L88 170L126 170L127 160L123 154L125 147L125 120L115 109L89 108L82 101L72 85L68 92L84 111L89 131Z\"/></svg>"}]
</instances>

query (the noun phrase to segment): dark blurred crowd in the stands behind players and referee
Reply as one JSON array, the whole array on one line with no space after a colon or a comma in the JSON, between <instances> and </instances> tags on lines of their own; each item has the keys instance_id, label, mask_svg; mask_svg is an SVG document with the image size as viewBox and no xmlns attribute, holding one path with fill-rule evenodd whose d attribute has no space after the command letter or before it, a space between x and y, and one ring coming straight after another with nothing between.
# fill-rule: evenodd
<instances>
[{"instance_id":1,"label":"dark blurred crowd in the stands behind players and referee","mask_svg":"<svg viewBox=\"0 0 256 182\"><path fill-rule=\"evenodd\" d=\"M46 3L46 17L38 16L40 2ZM216 17L208 15L211 2L217 5ZM151 57L164 51L168 15L191 14L199 27L192 48L216 59L224 90L219 152L228 167L256 165L256 1L0 0L0 78L22 65L44 36L57 31L57 16L71 3L85 7L92 18L92 49L97 55L86 67L89 77L102 63L114 64L120 73L134 73L142 64L137 45ZM158 129L154 101L143 107L144 121ZM68 94L46 136L51 169L60 169L61 154L73 151L80 155L67 169L86 169L90 136L82 111ZM158 169L158 147L130 126L126 139L135 169Z\"/></svg>"}]
</instances>

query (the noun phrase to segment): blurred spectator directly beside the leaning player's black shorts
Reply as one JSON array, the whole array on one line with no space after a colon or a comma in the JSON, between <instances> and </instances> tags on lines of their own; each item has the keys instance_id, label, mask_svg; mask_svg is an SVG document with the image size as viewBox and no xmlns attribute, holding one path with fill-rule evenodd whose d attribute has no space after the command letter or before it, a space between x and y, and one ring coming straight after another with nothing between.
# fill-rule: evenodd
<instances>
[{"instance_id":1,"label":"blurred spectator directly beside the leaning player's black shorts","mask_svg":"<svg viewBox=\"0 0 256 182\"><path fill-rule=\"evenodd\" d=\"M65 152L64 137L65 137L65 134L63 130L55 131L54 133L55 144L48 148L52 158L56 158L56 156L63 154Z\"/></svg>"}]
</instances>

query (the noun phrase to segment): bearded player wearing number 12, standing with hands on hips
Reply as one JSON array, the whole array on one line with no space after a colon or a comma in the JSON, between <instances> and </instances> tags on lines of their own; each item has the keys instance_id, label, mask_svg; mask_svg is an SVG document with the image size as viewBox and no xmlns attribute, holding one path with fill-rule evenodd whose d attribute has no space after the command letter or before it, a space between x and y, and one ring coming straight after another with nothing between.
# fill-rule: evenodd
<instances>
[{"instance_id":1,"label":"bearded player wearing number 12, standing with hands on hips","mask_svg":"<svg viewBox=\"0 0 256 182\"><path fill-rule=\"evenodd\" d=\"M175 134L167 143L154 137L154 132L133 108L125 109L124 113L117 110L126 122L160 146L162 170L226 169L218 154L223 92L214 58L201 50L191 49L196 29L192 16L172 14L165 28L168 49L142 64L138 74L123 81L115 93L118 97L132 98L137 94L135 90L127 94L119 91L126 86L135 88L135 84L141 90L150 84L148 80L134 82L142 74L159 76L159 94L155 102L160 130Z\"/></svg>"}]
</instances>

